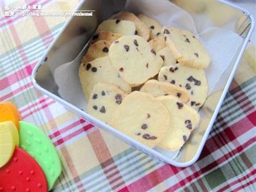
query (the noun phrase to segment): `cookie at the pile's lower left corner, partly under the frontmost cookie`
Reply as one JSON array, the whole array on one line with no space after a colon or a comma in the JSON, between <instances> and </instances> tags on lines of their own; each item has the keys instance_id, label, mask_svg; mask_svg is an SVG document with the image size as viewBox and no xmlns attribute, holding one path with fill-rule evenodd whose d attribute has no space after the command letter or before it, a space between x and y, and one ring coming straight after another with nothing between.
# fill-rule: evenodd
<instances>
[{"instance_id":1,"label":"cookie at the pile's lower left corner, partly under the frontmost cookie","mask_svg":"<svg viewBox=\"0 0 256 192\"><path fill-rule=\"evenodd\" d=\"M114 84L97 83L93 86L87 104L87 113L102 122L109 122L125 96L125 92Z\"/></svg>"}]
</instances>

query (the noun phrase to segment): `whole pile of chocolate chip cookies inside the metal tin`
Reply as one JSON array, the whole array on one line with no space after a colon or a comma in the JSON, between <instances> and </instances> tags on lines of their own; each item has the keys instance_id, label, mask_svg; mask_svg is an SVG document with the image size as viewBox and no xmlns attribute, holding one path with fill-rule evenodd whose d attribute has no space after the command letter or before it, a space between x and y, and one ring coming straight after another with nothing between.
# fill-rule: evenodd
<instances>
[{"instance_id":1,"label":"whole pile of chocolate chip cookies inside the metal tin","mask_svg":"<svg viewBox=\"0 0 256 192\"><path fill-rule=\"evenodd\" d=\"M178 150L200 121L209 54L191 32L146 15L112 18L79 67L87 112L150 148Z\"/></svg>"}]
</instances>

